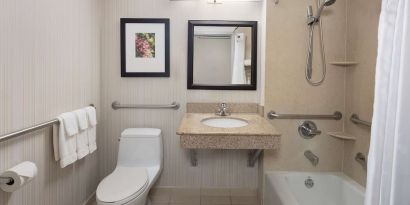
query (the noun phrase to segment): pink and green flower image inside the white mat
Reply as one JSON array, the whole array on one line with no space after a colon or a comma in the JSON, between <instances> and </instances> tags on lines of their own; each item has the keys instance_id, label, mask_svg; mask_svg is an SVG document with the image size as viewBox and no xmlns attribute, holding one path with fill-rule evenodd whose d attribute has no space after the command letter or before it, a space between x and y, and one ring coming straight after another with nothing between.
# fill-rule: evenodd
<instances>
[{"instance_id":1,"label":"pink and green flower image inside the white mat","mask_svg":"<svg viewBox=\"0 0 410 205\"><path fill-rule=\"evenodd\" d=\"M155 33L135 34L135 57L155 58Z\"/></svg>"}]
</instances>

